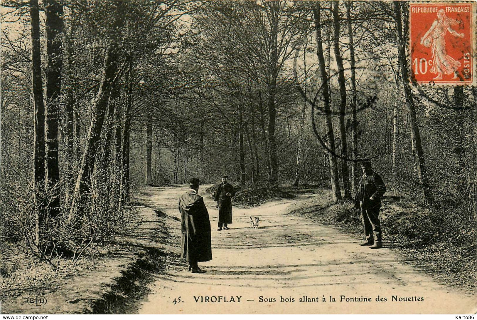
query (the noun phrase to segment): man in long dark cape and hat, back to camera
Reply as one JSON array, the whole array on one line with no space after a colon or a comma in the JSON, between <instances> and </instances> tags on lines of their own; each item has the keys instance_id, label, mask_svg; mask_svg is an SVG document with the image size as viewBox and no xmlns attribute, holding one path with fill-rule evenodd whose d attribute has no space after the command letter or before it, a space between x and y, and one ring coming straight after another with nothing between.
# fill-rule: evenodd
<instances>
[{"instance_id":1,"label":"man in long dark cape and hat, back to camera","mask_svg":"<svg viewBox=\"0 0 477 320\"><path fill-rule=\"evenodd\" d=\"M197 194L199 180L190 179L189 190L179 198L181 213L181 260L189 263L192 273L204 273L197 266L199 261L212 260L210 220L204 199Z\"/></svg>"}]
</instances>

